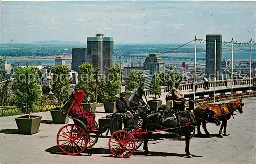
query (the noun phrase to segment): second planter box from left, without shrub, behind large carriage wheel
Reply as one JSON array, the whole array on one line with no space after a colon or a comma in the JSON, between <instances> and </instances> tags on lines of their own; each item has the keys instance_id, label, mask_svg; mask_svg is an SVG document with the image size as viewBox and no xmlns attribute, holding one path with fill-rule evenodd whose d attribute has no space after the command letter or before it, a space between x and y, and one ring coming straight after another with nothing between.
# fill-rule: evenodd
<instances>
[{"instance_id":1,"label":"second planter box from left, without shrub, behind large carriage wheel","mask_svg":"<svg viewBox=\"0 0 256 164\"><path fill-rule=\"evenodd\" d=\"M69 122L69 117L63 116L62 111L60 111L60 108L55 108L50 112L51 112L52 121L54 124L67 124Z\"/></svg>"}]
</instances>

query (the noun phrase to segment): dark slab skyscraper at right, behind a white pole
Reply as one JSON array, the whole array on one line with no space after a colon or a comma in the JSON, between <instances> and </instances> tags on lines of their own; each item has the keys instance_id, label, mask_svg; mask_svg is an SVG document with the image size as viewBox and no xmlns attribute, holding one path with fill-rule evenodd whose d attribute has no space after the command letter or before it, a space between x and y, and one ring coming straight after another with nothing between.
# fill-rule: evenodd
<instances>
[{"instance_id":1,"label":"dark slab skyscraper at right, behind a white pole","mask_svg":"<svg viewBox=\"0 0 256 164\"><path fill-rule=\"evenodd\" d=\"M222 73L222 35L221 34L207 34L206 35L206 67L205 72L207 77L214 77L214 48L216 39L216 78L221 78Z\"/></svg>"}]
</instances>

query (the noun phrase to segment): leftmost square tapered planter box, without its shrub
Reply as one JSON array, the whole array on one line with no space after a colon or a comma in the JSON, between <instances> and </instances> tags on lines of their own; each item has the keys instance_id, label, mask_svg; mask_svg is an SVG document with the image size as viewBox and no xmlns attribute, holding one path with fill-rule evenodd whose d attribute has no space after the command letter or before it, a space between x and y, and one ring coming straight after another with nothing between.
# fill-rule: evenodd
<instances>
[{"instance_id":1,"label":"leftmost square tapered planter box, without its shrub","mask_svg":"<svg viewBox=\"0 0 256 164\"><path fill-rule=\"evenodd\" d=\"M19 134L32 135L39 131L42 116L29 115L15 118Z\"/></svg>"}]
</instances>

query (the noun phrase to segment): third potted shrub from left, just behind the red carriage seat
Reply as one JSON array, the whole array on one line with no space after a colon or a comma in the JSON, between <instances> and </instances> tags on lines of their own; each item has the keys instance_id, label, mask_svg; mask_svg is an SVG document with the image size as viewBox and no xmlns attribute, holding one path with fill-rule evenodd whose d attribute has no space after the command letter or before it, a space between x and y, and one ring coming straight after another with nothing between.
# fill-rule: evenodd
<instances>
[{"instance_id":1,"label":"third potted shrub from left, just behind the red carriage seat","mask_svg":"<svg viewBox=\"0 0 256 164\"><path fill-rule=\"evenodd\" d=\"M79 66L77 90L83 90L86 93L87 99L82 103L84 110L89 111L91 108L93 112L96 111L98 74L98 66L94 70L91 63L83 63Z\"/></svg>"}]
</instances>

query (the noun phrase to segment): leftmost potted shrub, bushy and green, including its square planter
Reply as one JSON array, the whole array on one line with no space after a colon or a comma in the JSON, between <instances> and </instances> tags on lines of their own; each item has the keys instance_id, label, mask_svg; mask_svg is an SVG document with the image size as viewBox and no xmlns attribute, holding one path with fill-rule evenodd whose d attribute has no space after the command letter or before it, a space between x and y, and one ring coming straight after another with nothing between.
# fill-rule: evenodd
<instances>
[{"instance_id":1,"label":"leftmost potted shrub, bushy and green, including its square planter","mask_svg":"<svg viewBox=\"0 0 256 164\"><path fill-rule=\"evenodd\" d=\"M17 97L15 104L21 112L28 114L15 118L20 134L34 134L39 131L42 116L30 115L40 99L38 72L35 67L15 68L12 89Z\"/></svg>"}]
</instances>

